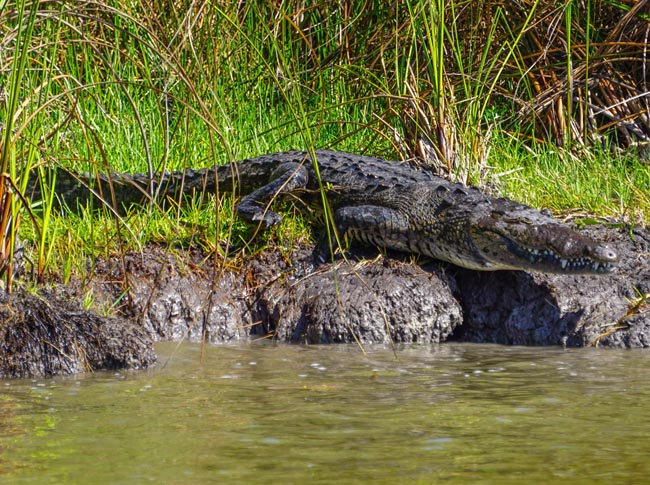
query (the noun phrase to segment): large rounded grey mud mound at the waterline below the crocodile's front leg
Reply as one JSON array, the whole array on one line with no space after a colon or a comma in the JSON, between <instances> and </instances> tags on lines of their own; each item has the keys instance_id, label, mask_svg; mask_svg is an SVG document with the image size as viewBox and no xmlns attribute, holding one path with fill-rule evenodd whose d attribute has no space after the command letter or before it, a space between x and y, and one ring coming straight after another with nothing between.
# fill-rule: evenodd
<instances>
[{"instance_id":1,"label":"large rounded grey mud mound at the waterline below the crocodile's front leg","mask_svg":"<svg viewBox=\"0 0 650 485\"><path fill-rule=\"evenodd\" d=\"M269 274L265 267L253 273ZM293 343L438 343L462 321L441 273L385 258L275 279L258 286L255 301L250 319Z\"/></svg>"}]
</instances>

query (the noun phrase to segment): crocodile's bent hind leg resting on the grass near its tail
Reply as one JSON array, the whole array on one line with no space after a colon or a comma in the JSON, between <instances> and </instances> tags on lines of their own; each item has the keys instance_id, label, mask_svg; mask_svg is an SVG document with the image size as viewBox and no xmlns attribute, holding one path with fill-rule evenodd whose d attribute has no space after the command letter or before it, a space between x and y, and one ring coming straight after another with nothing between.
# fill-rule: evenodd
<instances>
[{"instance_id":1,"label":"crocodile's bent hind leg resting on the grass near its tail","mask_svg":"<svg viewBox=\"0 0 650 485\"><path fill-rule=\"evenodd\" d=\"M286 194L307 186L309 174L300 163L280 165L272 174L271 182L243 197L237 206L237 214L250 224L262 224L264 228L282 220L269 206L280 194Z\"/></svg>"}]
</instances>

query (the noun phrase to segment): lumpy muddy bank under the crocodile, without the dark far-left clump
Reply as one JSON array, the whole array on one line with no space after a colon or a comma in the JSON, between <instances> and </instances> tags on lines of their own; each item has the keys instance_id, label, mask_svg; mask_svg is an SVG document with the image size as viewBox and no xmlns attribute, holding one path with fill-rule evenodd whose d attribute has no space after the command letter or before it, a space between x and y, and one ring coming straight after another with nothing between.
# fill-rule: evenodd
<instances>
[{"instance_id":1,"label":"lumpy muddy bank under the crocodile, without the dark far-left clump","mask_svg":"<svg viewBox=\"0 0 650 485\"><path fill-rule=\"evenodd\" d=\"M126 273L118 261L102 262L95 291L116 298L123 289L115 282L126 274L131 317L160 340L650 346L647 306L626 316L650 293L650 231L584 232L616 247L615 272L477 272L372 252L315 269L305 248L270 250L238 272L215 273L202 254L151 247L127 255Z\"/></svg>"}]
</instances>

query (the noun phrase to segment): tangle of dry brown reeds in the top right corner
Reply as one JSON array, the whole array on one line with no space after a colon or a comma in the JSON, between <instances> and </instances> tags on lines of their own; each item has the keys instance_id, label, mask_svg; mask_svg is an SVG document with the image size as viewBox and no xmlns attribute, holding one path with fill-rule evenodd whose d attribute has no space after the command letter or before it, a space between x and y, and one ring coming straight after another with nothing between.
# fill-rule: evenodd
<instances>
[{"instance_id":1,"label":"tangle of dry brown reeds in the top right corner","mask_svg":"<svg viewBox=\"0 0 650 485\"><path fill-rule=\"evenodd\" d=\"M650 24L641 15L647 2L635 2L628 12L608 2L571 5L576 10L544 4L539 17L547 21L534 24L521 46L519 62L533 96L515 98L518 122L532 120L536 132L560 146L603 137L623 146L647 144Z\"/></svg>"}]
</instances>

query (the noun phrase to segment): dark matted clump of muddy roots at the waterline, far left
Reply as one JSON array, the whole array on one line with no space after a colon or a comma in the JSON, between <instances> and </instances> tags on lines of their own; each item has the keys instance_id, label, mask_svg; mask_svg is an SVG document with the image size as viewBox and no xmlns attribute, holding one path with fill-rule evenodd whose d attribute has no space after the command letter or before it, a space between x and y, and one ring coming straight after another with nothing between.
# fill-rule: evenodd
<instances>
[{"instance_id":1,"label":"dark matted clump of muddy roots at the waterline, far left","mask_svg":"<svg viewBox=\"0 0 650 485\"><path fill-rule=\"evenodd\" d=\"M142 369L156 361L147 332L101 317L74 299L22 290L0 301L0 378Z\"/></svg>"}]
</instances>

